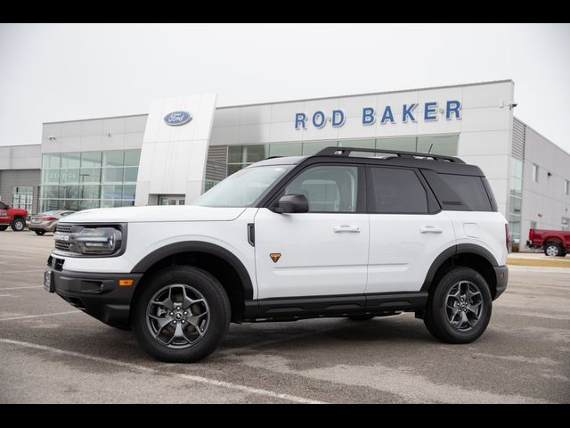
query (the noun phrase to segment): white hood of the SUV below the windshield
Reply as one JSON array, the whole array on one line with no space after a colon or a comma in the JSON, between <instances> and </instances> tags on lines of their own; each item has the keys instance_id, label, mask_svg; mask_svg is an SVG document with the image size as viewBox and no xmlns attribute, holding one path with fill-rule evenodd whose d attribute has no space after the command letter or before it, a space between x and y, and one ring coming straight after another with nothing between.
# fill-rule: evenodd
<instances>
[{"instance_id":1,"label":"white hood of the SUV below the windshield","mask_svg":"<svg viewBox=\"0 0 570 428\"><path fill-rule=\"evenodd\" d=\"M98 208L70 214L61 223L136 223L161 221L230 221L245 208L211 208L196 205Z\"/></svg>"}]
</instances>

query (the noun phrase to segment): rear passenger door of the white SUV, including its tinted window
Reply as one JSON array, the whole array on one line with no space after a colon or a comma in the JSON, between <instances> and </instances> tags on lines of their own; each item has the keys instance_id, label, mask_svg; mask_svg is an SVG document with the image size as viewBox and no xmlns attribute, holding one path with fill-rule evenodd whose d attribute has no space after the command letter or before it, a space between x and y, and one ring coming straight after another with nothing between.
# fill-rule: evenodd
<instances>
[{"instance_id":1,"label":"rear passenger door of the white SUV, including its tinted window","mask_svg":"<svg viewBox=\"0 0 570 428\"><path fill-rule=\"evenodd\" d=\"M452 222L414 169L369 167L371 248L366 293L416 292L455 244Z\"/></svg>"}]
</instances>

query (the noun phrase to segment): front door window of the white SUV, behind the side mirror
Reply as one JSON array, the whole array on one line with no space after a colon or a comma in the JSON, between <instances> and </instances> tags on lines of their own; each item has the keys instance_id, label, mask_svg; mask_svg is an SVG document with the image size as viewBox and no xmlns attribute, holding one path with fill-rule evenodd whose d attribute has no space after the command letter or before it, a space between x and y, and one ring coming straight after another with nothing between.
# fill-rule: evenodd
<instances>
[{"instance_id":1,"label":"front door window of the white SUV, behind the side mirror","mask_svg":"<svg viewBox=\"0 0 570 428\"><path fill-rule=\"evenodd\" d=\"M358 167L334 165L305 169L283 194L304 194L309 212L354 212Z\"/></svg>"}]
</instances>

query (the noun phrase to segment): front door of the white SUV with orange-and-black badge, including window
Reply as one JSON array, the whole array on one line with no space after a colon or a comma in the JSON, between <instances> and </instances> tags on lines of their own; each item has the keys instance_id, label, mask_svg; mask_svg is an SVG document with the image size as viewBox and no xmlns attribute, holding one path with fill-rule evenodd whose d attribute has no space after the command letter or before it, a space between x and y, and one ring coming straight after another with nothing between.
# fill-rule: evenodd
<instances>
[{"instance_id":1,"label":"front door of the white SUV with orange-and-black badge, including window","mask_svg":"<svg viewBox=\"0 0 570 428\"><path fill-rule=\"evenodd\" d=\"M257 211L259 299L362 295L369 251L363 182L355 165L311 165L277 196L304 194L309 212Z\"/></svg>"}]
</instances>

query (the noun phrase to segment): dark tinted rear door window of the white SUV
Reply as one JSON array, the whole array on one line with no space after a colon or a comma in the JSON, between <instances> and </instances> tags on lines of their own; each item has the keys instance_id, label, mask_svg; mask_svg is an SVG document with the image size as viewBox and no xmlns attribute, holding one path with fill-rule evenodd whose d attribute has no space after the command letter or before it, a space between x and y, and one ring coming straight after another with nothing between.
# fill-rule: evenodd
<instances>
[{"instance_id":1,"label":"dark tinted rear door window of the white SUV","mask_svg":"<svg viewBox=\"0 0 570 428\"><path fill-rule=\"evenodd\" d=\"M379 213L428 213L428 196L411 169L371 168L376 211Z\"/></svg>"}]
</instances>

